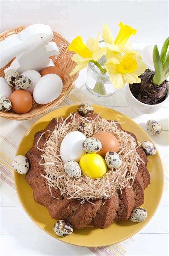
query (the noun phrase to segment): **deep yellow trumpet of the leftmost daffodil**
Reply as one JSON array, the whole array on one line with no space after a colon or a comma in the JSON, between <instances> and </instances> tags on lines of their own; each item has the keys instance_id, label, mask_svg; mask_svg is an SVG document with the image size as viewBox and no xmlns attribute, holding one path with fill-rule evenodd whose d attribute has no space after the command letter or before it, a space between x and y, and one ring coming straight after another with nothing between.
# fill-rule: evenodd
<instances>
[{"instance_id":1,"label":"deep yellow trumpet of the leftmost daffodil","mask_svg":"<svg viewBox=\"0 0 169 256\"><path fill-rule=\"evenodd\" d=\"M70 51L76 52L84 59L92 57L92 52L86 47L80 36L77 36L67 48Z\"/></svg>"}]
</instances>

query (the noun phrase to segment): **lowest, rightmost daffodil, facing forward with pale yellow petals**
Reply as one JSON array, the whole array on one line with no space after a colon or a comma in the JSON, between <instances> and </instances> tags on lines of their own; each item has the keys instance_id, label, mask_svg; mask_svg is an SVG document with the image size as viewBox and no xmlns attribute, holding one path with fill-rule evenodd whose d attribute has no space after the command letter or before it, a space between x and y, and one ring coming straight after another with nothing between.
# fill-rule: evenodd
<instances>
[{"instance_id":1,"label":"lowest, rightmost daffodil, facing forward with pale yellow petals","mask_svg":"<svg viewBox=\"0 0 169 256\"><path fill-rule=\"evenodd\" d=\"M112 53L112 52L111 52ZM116 89L122 88L126 83L140 83L138 77L144 73L146 65L138 58L138 53L109 53L109 59L104 64L104 67L109 73L111 83Z\"/></svg>"}]
</instances>

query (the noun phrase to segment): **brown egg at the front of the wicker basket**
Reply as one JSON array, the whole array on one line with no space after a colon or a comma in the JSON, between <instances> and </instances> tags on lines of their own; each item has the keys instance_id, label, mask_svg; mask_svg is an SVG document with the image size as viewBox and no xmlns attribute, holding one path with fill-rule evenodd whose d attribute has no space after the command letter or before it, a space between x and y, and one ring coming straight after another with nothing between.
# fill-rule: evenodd
<instances>
[{"instance_id":1,"label":"brown egg at the front of the wicker basket","mask_svg":"<svg viewBox=\"0 0 169 256\"><path fill-rule=\"evenodd\" d=\"M32 107L32 96L30 92L25 90L17 90L11 93L10 101L12 103L12 110L18 114L28 112Z\"/></svg>"}]
</instances>

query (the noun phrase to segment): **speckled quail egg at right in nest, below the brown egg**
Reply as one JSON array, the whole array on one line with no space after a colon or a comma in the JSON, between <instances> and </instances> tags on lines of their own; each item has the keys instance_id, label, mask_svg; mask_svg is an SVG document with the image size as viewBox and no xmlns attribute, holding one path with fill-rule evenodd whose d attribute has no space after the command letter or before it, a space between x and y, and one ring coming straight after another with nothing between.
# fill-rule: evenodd
<instances>
[{"instance_id":1,"label":"speckled quail egg at right in nest, below the brown egg","mask_svg":"<svg viewBox=\"0 0 169 256\"><path fill-rule=\"evenodd\" d=\"M105 161L109 168L117 169L122 165L121 157L114 151L108 151L106 153Z\"/></svg>"}]
</instances>

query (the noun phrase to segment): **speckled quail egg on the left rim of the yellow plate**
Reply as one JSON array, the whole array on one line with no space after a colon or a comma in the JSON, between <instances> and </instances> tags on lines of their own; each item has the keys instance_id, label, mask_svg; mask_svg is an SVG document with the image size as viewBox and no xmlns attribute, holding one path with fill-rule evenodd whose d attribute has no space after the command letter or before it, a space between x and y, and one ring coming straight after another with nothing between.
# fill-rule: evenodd
<instances>
[{"instance_id":1,"label":"speckled quail egg on the left rim of the yellow plate","mask_svg":"<svg viewBox=\"0 0 169 256\"><path fill-rule=\"evenodd\" d=\"M29 161L23 155L15 156L12 165L17 173L26 174L29 171Z\"/></svg>"}]
</instances>

